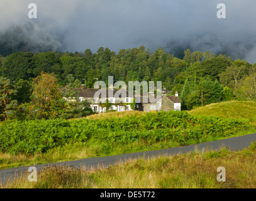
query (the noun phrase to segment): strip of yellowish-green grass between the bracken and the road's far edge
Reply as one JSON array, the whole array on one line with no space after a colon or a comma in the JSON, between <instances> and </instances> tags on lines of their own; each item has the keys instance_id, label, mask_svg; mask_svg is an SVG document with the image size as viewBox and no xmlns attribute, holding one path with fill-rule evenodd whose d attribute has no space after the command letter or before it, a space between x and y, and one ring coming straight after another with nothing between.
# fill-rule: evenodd
<instances>
[{"instance_id":1,"label":"strip of yellowish-green grass between the bracken and the road's far edge","mask_svg":"<svg viewBox=\"0 0 256 201\"><path fill-rule=\"evenodd\" d=\"M177 146L179 146L179 144L168 141L153 143L147 146L145 146L143 142L136 142L128 144L127 146L115 146L111 151L106 152L106 150L104 150L104 146L101 144L90 142L67 144L66 146L50 149L47 153L36 153L35 155L27 155L25 153L19 153L16 155L0 153L0 169L72 161L100 156L121 155L125 153L157 150Z\"/></svg>"}]
</instances>

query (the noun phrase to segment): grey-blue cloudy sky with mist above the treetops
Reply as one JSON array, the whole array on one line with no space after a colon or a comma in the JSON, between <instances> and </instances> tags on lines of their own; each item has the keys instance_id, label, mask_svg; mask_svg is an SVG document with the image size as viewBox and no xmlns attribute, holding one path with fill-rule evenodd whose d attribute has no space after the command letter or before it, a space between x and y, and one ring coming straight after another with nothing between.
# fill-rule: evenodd
<instances>
[{"instance_id":1,"label":"grey-blue cloudy sky with mist above the treetops","mask_svg":"<svg viewBox=\"0 0 256 201\"><path fill-rule=\"evenodd\" d=\"M37 18L28 18L35 3ZM217 4L226 18L217 18ZM84 52L141 45L225 53L256 63L255 0L1 0L0 52Z\"/></svg>"}]
</instances>

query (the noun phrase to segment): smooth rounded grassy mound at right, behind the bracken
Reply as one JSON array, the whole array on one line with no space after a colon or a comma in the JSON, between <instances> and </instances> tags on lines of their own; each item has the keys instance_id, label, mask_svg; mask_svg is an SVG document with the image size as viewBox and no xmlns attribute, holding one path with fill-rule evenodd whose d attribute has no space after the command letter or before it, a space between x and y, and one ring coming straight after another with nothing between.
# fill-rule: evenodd
<instances>
[{"instance_id":1,"label":"smooth rounded grassy mound at right, behind the bracken","mask_svg":"<svg viewBox=\"0 0 256 201\"><path fill-rule=\"evenodd\" d=\"M193 109L189 114L230 119L256 119L256 102L243 100L218 102Z\"/></svg>"}]
</instances>

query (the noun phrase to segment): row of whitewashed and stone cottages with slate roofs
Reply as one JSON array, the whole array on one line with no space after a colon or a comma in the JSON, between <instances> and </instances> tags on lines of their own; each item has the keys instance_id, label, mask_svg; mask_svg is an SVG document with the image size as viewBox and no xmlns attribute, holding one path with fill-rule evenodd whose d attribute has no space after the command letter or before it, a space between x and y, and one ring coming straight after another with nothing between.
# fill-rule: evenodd
<instances>
[{"instance_id":1,"label":"row of whitewashed and stone cottages with slate roofs","mask_svg":"<svg viewBox=\"0 0 256 201\"><path fill-rule=\"evenodd\" d=\"M154 101L150 101L149 95L140 95L140 97L133 97L130 95L125 89L107 89L106 90L106 98L102 98L99 93L99 89L86 88L84 85L81 85L81 88L76 88L79 93L79 101L89 100L91 102L91 109L94 112L106 112L107 107L106 104L102 104L101 100L106 102L108 99L108 109L109 111L131 111L132 109L136 111L181 111L181 101L179 100L178 94L176 92L175 95L167 95L166 90L162 90L162 98L156 99L154 97ZM65 88L62 88L62 92L65 92ZM94 97L94 95L98 93L99 96ZM125 95L124 95L125 94ZM133 99L135 98L136 102L133 103ZM65 98L64 98L65 99ZM140 99L140 101L138 101ZM145 101L147 99L147 101ZM131 108L131 106L133 108Z\"/></svg>"}]
</instances>

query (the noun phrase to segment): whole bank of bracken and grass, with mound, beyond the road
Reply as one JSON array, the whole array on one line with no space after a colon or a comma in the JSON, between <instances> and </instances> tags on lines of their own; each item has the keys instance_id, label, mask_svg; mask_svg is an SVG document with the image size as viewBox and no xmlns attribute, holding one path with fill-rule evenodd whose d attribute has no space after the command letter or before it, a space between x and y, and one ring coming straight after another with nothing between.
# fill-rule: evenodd
<instances>
[{"instance_id":1,"label":"whole bank of bracken and grass, with mound, beyond the road","mask_svg":"<svg viewBox=\"0 0 256 201\"><path fill-rule=\"evenodd\" d=\"M220 110L220 106L230 112ZM172 148L255 133L255 120L252 117L256 113L249 115L248 106L250 111L256 110L255 102L231 101L195 109L188 116L186 112L160 114L130 111L94 114L69 121L28 121L24 125L20 122L9 122L0 128L4 133L0 136L0 143L4 146L6 142L9 144L6 151L0 152L0 168ZM233 112L239 115L231 116ZM220 121L216 117L211 119L208 116L219 116L224 120ZM228 117L242 118L242 122L226 121ZM88 132L93 138L87 139ZM220 134L223 132L225 133ZM71 143L73 139L75 140ZM48 143L52 145L48 146ZM40 146L43 147L40 149ZM45 151L25 153L31 151L28 148Z\"/></svg>"}]
</instances>

